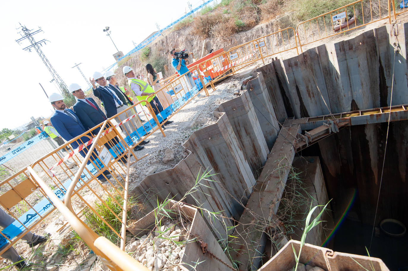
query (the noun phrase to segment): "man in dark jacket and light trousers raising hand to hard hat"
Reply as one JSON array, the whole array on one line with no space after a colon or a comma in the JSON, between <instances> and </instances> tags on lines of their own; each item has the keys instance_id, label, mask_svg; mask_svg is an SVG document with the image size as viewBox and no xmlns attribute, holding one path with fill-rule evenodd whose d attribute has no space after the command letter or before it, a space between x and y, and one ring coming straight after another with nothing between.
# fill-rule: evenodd
<instances>
[{"instance_id":1,"label":"man in dark jacket and light trousers raising hand to hard hat","mask_svg":"<svg viewBox=\"0 0 408 271\"><path fill-rule=\"evenodd\" d=\"M129 98L127 98L126 95L123 95L122 91L109 88L102 73L93 73L93 78L89 78L89 81L92 84L93 95L102 101L106 110L106 116L108 118L121 113L118 115L118 117L115 117L115 120L119 123L132 115L132 111L127 110L129 108L127 105L128 101L130 101ZM95 83L99 84L98 88L96 87ZM138 117L135 118L138 120ZM138 123L135 122L135 118L122 124L122 128L124 129L126 136L130 136L138 127L141 126L140 121L139 126L137 125ZM146 141L143 141L141 145L146 143ZM142 150L144 146L141 145L137 145L134 150Z\"/></svg>"}]
</instances>

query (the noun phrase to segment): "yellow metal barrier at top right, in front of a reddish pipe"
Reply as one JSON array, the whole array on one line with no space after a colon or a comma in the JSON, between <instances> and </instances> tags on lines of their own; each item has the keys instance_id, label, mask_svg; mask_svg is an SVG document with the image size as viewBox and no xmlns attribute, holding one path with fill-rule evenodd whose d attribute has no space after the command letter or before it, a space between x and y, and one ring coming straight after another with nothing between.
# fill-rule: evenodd
<instances>
[{"instance_id":1,"label":"yellow metal barrier at top right, in front of a reddish pipe","mask_svg":"<svg viewBox=\"0 0 408 271\"><path fill-rule=\"evenodd\" d=\"M390 0L358 0L329 11L296 26L301 52L302 46L333 37L340 33L377 22L390 16Z\"/></svg>"}]
</instances>

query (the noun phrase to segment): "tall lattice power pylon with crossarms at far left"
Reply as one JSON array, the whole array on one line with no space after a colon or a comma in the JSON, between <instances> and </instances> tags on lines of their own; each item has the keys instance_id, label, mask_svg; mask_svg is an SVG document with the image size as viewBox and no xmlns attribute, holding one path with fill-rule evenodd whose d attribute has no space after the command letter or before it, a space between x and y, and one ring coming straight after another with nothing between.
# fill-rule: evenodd
<instances>
[{"instance_id":1,"label":"tall lattice power pylon with crossarms at far left","mask_svg":"<svg viewBox=\"0 0 408 271\"><path fill-rule=\"evenodd\" d=\"M43 32L41 30L41 27L38 26L38 30L33 31L33 30L27 29L26 26L23 26L23 25L20 24L20 28L21 28L22 33L21 32L19 32L19 33L20 33L20 35L22 37L20 39L16 40L16 42L18 44L20 44L23 40L26 40L26 39L29 40L31 45L23 48L23 50L31 52L31 49L33 48L38 53L38 55L41 57L42 62L44 62L44 64L47 67L48 71L51 73L53 79L57 82L57 84L58 84L58 86L60 88L60 93L62 94L62 96L69 97L70 94L69 94L67 85L65 84L64 80L62 80L60 75L58 75L58 73L55 71L55 69L53 68L53 66L51 65L51 63L49 62L49 60L47 59L47 57L44 55L44 53L42 52L42 50L40 48L40 46L42 47L42 44L47 45L46 42L49 42L49 40L44 40L43 39L43 40L40 40L39 42L36 42L34 40L33 35L38 34L40 32Z\"/></svg>"}]
</instances>

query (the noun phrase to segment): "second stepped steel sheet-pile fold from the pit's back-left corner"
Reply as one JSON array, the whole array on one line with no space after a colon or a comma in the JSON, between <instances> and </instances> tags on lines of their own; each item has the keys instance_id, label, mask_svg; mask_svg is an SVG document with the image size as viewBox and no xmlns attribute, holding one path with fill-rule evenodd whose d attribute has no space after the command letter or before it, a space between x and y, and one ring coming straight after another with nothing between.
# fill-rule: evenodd
<instances>
[{"instance_id":1,"label":"second stepped steel sheet-pile fold from the pit's back-left corner","mask_svg":"<svg viewBox=\"0 0 408 271\"><path fill-rule=\"evenodd\" d=\"M244 152L245 160L248 161L253 175L257 177L260 168L266 162L268 146L250 101L249 93L245 91L239 97L222 103L218 111L225 112L228 117L239 146Z\"/></svg>"}]
</instances>

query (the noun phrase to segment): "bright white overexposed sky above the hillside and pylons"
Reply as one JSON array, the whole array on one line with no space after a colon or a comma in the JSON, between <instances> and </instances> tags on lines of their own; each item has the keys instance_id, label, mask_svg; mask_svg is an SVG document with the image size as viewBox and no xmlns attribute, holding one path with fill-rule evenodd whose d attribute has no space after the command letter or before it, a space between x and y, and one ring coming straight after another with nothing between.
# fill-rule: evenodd
<instances>
[{"instance_id":1,"label":"bright white overexposed sky above the hillside and pylons","mask_svg":"<svg viewBox=\"0 0 408 271\"><path fill-rule=\"evenodd\" d=\"M189 0L193 8L202 0ZM49 40L41 47L49 62L69 86L87 84L75 63L89 78L115 62L112 41L103 32L109 26L115 45L124 54L134 48L153 31L155 23L164 28L180 18L188 9L187 0L153 1L1 1L0 16L2 98L0 100L0 130L16 128L30 121L30 117L48 117L52 107L42 91L48 95L58 92L52 76L38 54L22 50L30 45L26 39L19 45L21 35L16 28L22 25L44 32L34 35L36 41Z\"/></svg>"}]
</instances>

